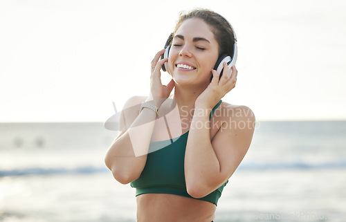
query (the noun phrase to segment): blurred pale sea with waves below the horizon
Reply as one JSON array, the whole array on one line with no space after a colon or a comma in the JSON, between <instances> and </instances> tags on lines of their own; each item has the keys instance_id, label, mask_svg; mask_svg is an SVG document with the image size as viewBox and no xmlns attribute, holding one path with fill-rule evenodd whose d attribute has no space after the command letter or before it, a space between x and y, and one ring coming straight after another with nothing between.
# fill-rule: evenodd
<instances>
[{"instance_id":1,"label":"blurred pale sea with waves below the horizon","mask_svg":"<svg viewBox=\"0 0 346 222\"><path fill-rule=\"evenodd\" d=\"M136 221L101 122L0 123L0 221ZM221 221L346 221L346 121L257 122Z\"/></svg>"}]
</instances>

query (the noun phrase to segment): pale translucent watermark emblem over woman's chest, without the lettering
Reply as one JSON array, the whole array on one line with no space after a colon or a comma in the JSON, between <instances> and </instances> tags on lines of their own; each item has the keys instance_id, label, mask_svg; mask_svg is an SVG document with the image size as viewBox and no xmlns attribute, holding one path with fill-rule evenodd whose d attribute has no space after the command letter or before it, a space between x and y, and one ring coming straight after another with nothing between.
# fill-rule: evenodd
<instances>
[{"instance_id":1,"label":"pale translucent watermark emblem over woman's chest, without the lettering","mask_svg":"<svg viewBox=\"0 0 346 222\"><path fill-rule=\"evenodd\" d=\"M104 128L111 131L127 131L135 156L142 156L167 147L180 138L182 129L181 118L175 100L167 99L165 102L170 102L172 108L161 111L161 118L156 120L140 120L138 118L134 122L132 122L130 116L133 116L133 113L138 113L140 104L127 107L118 112L116 103L113 102L115 113L104 122ZM169 118L166 118L166 115ZM146 148L143 147L143 141L148 138L145 132L152 127L150 125L153 122L154 131L152 132L149 148Z\"/></svg>"}]
</instances>

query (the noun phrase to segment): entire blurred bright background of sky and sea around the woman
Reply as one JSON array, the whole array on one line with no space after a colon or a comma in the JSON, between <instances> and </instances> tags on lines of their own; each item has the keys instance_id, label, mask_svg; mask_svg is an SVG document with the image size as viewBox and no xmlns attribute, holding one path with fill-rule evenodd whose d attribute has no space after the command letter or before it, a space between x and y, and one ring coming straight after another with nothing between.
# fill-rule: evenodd
<instances>
[{"instance_id":1,"label":"entire blurred bright background of sky and sea around the woman","mask_svg":"<svg viewBox=\"0 0 346 222\"><path fill-rule=\"evenodd\" d=\"M0 0L0 221L136 221L103 158L103 122L149 93L179 13L237 34L237 87L257 124L215 221L346 221L344 1ZM163 82L170 81L162 73Z\"/></svg>"}]
</instances>

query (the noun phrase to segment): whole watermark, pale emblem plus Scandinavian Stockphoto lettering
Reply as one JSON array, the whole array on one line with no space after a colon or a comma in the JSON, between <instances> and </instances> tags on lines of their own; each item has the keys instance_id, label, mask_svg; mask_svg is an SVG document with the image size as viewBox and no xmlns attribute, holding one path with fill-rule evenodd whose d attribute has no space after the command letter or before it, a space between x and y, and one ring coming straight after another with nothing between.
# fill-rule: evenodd
<instances>
[{"instance_id":1,"label":"whole watermark, pale emblem plus Scandinavian Stockphoto lettering","mask_svg":"<svg viewBox=\"0 0 346 222\"><path fill-rule=\"evenodd\" d=\"M118 112L116 104L113 102L115 113L104 122L104 128L111 131L127 131L135 156L142 156L167 147L178 140L182 136L182 128L188 129L190 127L188 122L190 122L192 116L205 116L206 113L212 111L212 109L189 110L186 106L180 107L179 109L176 101L170 98L166 99L165 102L170 104L165 106L170 107L170 109L161 109L160 118L156 118L156 120L143 120L143 118L136 118L134 120L134 115L138 114L140 104L126 107ZM254 129L256 126L259 127L259 124L251 121L250 117L253 113L250 109L225 108L222 111L215 111L213 115L215 117L228 117L228 119L222 118L221 123L218 121L199 121L195 122L194 126L191 127L193 129L217 127L220 128L219 131L227 129ZM145 141L149 142L148 138L150 138L150 145L149 147L145 147L143 143L146 143Z\"/></svg>"}]
</instances>

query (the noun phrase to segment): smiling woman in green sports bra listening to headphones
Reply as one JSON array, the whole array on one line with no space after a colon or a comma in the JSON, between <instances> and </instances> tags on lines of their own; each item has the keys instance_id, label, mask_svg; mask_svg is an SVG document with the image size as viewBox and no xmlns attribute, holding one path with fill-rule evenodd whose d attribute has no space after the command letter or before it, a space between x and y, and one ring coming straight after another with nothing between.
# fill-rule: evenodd
<instances>
[{"instance_id":1,"label":"smiling woman in green sports bra listening to headphones","mask_svg":"<svg viewBox=\"0 0 346 222\"><path fill-rule=\"evenodd\" d=\"M152 60L149 96L126 102L105 163L117 181L136 187L137 221L215 218L255 124L251 109L221 100L235 87L237 69L224 62L220 75L214 66L220 55L233 55L235 40L215 12L181 15L168 57L160 59L163 49ZM160 79L164 64L172 76L167 86Z\"/></svg>"}]
</instances>

